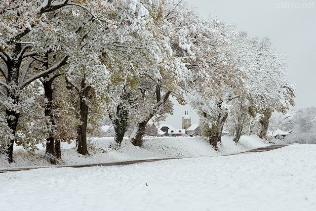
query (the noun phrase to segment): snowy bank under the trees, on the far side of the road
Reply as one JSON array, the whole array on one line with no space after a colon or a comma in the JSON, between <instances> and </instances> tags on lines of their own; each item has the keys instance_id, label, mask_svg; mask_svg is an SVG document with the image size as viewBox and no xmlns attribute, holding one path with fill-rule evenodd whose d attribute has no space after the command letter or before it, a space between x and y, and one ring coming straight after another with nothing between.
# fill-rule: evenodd
<instances>
[{"instance_id":1,"label":"snowy bank under the trees, on the far side of the road","mask_svg":"<svg viewBox=\"0 0 316 211\"><path fill-rule=\"evenodd\" d=\"M75 150L75 143L62 143L62 160L59 165L101 164L119 161L169 158L169 157L209 157L247 151L266 146L258 136L242 136L239 144L231 137L224 136L219 151L215 151L201 137L147 137L142 148L133 146L127 138L119 150L114 150L113 138L94 138L89 143L90 156L82 156ZM8 164L0 159L0 169L19 167L51 166L45 159L45 150L41 145L35 155L28 155L22 147L14 147L15 163Z\"/></svg>"}]
</instances>

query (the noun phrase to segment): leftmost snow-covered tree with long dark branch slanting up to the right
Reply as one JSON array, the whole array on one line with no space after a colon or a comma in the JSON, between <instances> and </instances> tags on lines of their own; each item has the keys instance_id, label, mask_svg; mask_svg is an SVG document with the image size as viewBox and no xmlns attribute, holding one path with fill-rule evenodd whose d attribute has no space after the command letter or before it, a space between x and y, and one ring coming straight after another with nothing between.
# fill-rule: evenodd
<instances>
[{"instance_id":1,"label":"leftmost snow-covered tree with long dark branch slanting up to the right","mask_svg":"<svg viewBox=\"0 0 316 211\"><path fill-rule=\"evenodd\" d=\"M78 8L85 10L100 24L103 21L106 23L105 26L111 26L113 23L108 17L116 11L115 5L118 3L120 3L119 0L110 3L102 0L6 0L0 2L2 22L0 25L0 71L3 79L0 84L4 88L1 94L6 96L6 102L10 102L6 106L4 117L11 131L11 135L6 136L9 139L2 141L1 150L7 155L9 162L13 161L13 137L20 116L18 107L21 90L65 65L69 57L66 54L50 68L30 73L36 60L35 56L41 56L42 51L45 53L44 48L47 46L44 43L47 38L52 40L55 30L58 31L50 24L50 19L46 17L46 14L66 7L70 9L69 11L72 8ZM59 17L56 15L53 18ZM62 24L62 22L59 23L59 25ZM58 39L59 37L56 36L55 41L58 42Z\"/></svg>"}]
</instances>

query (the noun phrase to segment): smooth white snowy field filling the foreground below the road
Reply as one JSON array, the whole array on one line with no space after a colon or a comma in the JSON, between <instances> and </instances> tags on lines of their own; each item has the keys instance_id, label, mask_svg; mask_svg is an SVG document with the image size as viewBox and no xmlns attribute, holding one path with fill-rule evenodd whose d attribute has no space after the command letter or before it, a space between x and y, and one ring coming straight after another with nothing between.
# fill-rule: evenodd
<instances>
[{"instance_id":1,"label":"smooth white snowy field filling the foreground below the road","mask_svg":"<svg viewBox=\"0 0 316 211\"><path fill-rule=\"evenodd\" d=\"M316 145L0 174L1 211L314 211Z\"/></svg>"}]
</instances>

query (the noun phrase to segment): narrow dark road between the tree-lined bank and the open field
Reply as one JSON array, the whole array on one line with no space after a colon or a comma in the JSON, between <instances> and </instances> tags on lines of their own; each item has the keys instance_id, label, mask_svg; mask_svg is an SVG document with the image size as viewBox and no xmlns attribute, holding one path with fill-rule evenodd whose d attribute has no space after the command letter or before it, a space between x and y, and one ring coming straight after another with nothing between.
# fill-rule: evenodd
<instances>
[{"instance_id":1,"label":"narrow dark road between the tree-lined bank and the open field","mask_svg":"<svg viewBox=\"0 0 316 211\"><path fill-rule=\"evenodd\" d=\"M245 152L239 152L235 154L229 155L221 155L221 156L230 156L230 155L239 155L239 154L247 154L247 153L255 153L255 152L266 152L274 149L278 149L281 147L285 147L288 145L274 144L266 147L256 148ZM32 167L32 168L15 168L15 169L0 169L0 173L5 173L8 171L20 171L20 170L31 170L31 169L44 169L44 168L82 168L82 167L110 167L110 166L125 166L130 164L140 164L146 162L155 162L155 161L166 161L166 160L174 160L174 159L183 159L183 158L158 158L158 159L148 159L148 160L137 160L137 161L122 161L115 163L105 163L105 164L88 164L88 165L79 165L79 166L47 166L47 167Z\"/></svg>"}]
</instances>

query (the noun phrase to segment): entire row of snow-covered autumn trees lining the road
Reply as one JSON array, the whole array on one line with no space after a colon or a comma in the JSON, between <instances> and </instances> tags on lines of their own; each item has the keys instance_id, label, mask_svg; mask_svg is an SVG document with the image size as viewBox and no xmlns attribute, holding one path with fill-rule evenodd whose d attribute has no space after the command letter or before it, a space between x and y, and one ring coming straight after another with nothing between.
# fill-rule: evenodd
<instances>
[{"instance_id":1,"label":"entire row of snow-covered autumn trees lining the road","mask_svg":"<svg viewBox=\"0 0 316 211\"><path fill-rule=\"evenodd\" d=\"M295 87L269 39L248 38L217 19L203 20L182 0L5 0L0 2L0 148L34 152L52 163L60 143L108 116L120 144L133 123L141 146L149 120L186 100L216 148L226 120L237 142L247 121L265 137L275 110L293 105ZM250 124L251 125L251 124Z\"/></svg>"}]
</instances>

